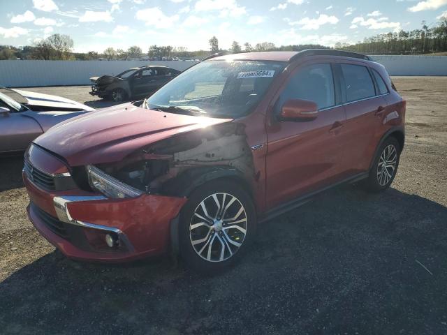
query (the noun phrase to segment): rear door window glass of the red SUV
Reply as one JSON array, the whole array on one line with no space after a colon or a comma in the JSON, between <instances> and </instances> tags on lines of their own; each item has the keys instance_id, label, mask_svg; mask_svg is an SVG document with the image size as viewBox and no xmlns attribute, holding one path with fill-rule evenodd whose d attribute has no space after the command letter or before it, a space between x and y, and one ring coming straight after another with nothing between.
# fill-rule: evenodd
<instances>
[{"instance_id":1,"label":"rear door window glass of the red SUV","mask_svg":"<svg viewBox=\"0 0 447 335\"><path fill-rule=\"evenodd\" d=\"M366 66L342 64L342 73L349 103L376 95L372 77Z\"/></svg>"}]
</instances>

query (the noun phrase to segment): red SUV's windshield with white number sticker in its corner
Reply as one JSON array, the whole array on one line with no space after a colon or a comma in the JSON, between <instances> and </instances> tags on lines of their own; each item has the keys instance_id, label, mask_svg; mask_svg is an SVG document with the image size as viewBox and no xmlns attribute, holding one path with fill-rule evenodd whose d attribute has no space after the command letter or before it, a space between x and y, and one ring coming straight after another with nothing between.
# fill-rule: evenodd
<instances>
[{"instance_id":1,"label":"red SUV's windshield with white number sticker in its corner","mask_svg":"<svg viewBox=\"0 0 447 335\"><path fill-rule=\"evenodd\" d=\"M243 117L253 110L285 65L276 61L204 61L156 91L143 107Z\"/></svg>"}]
</instances>

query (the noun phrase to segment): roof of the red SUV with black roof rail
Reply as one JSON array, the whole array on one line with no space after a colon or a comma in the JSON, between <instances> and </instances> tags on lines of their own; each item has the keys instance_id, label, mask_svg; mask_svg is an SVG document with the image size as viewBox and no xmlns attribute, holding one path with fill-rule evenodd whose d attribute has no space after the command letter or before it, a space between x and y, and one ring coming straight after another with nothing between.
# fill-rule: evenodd
<instances>
[{"instance_id":1,"label":"roof of the red SUV with black roof rail","mask_svg":"<svg viewBox=\"0 0 447 335\"><path fill-rule=\"evenodd\" d=\"M213 60L250 60L250 61L295 61L298 57L311 56L331 56L331 57L350 57L364 60L371 60L365 54L357 52L346 52L332 49L308 49L302 51L267 51L267 52L240 52L233 54L223 54L221 56L211 55L207 59Z\"/></svg>"}]
</instances>

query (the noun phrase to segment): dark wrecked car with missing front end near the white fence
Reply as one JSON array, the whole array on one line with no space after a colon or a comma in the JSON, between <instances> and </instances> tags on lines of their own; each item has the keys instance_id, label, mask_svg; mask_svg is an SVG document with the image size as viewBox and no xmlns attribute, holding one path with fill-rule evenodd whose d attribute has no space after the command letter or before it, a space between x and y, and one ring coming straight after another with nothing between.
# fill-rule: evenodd
<instances>
[{"instance_id":1,"label":"dark wrecked car with missing front end near the white fence","mask_svg":"<svg viewBox=\"0 0 447 335\"><path fill-rule=\"evenodd\" d=\"M100 98L111 98L113 101L145 98L179 73L179 70L167 66L129 68L116 77L112 75L91 77L93 85L89 93Z\"/></svg>"}]
</instances>

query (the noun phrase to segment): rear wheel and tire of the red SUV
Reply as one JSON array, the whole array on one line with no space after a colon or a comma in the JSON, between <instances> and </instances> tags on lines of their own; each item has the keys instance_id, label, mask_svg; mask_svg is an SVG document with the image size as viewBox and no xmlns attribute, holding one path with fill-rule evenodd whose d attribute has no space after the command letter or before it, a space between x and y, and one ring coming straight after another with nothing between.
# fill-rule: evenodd
<instances>
[{"instance_id":1,"label":"rear wheel and tire of the red SUV","mask_svg":"<svg viewBox=\"0 0 447 335\"><path fill-rule=\"evenodd\" d=\"M369 177L362 186L369 192L386 191L396 176L400 159L400 145L395 137L388 137L381 144L374 163L369 171Z\"/></svg>"}]
</instances>

